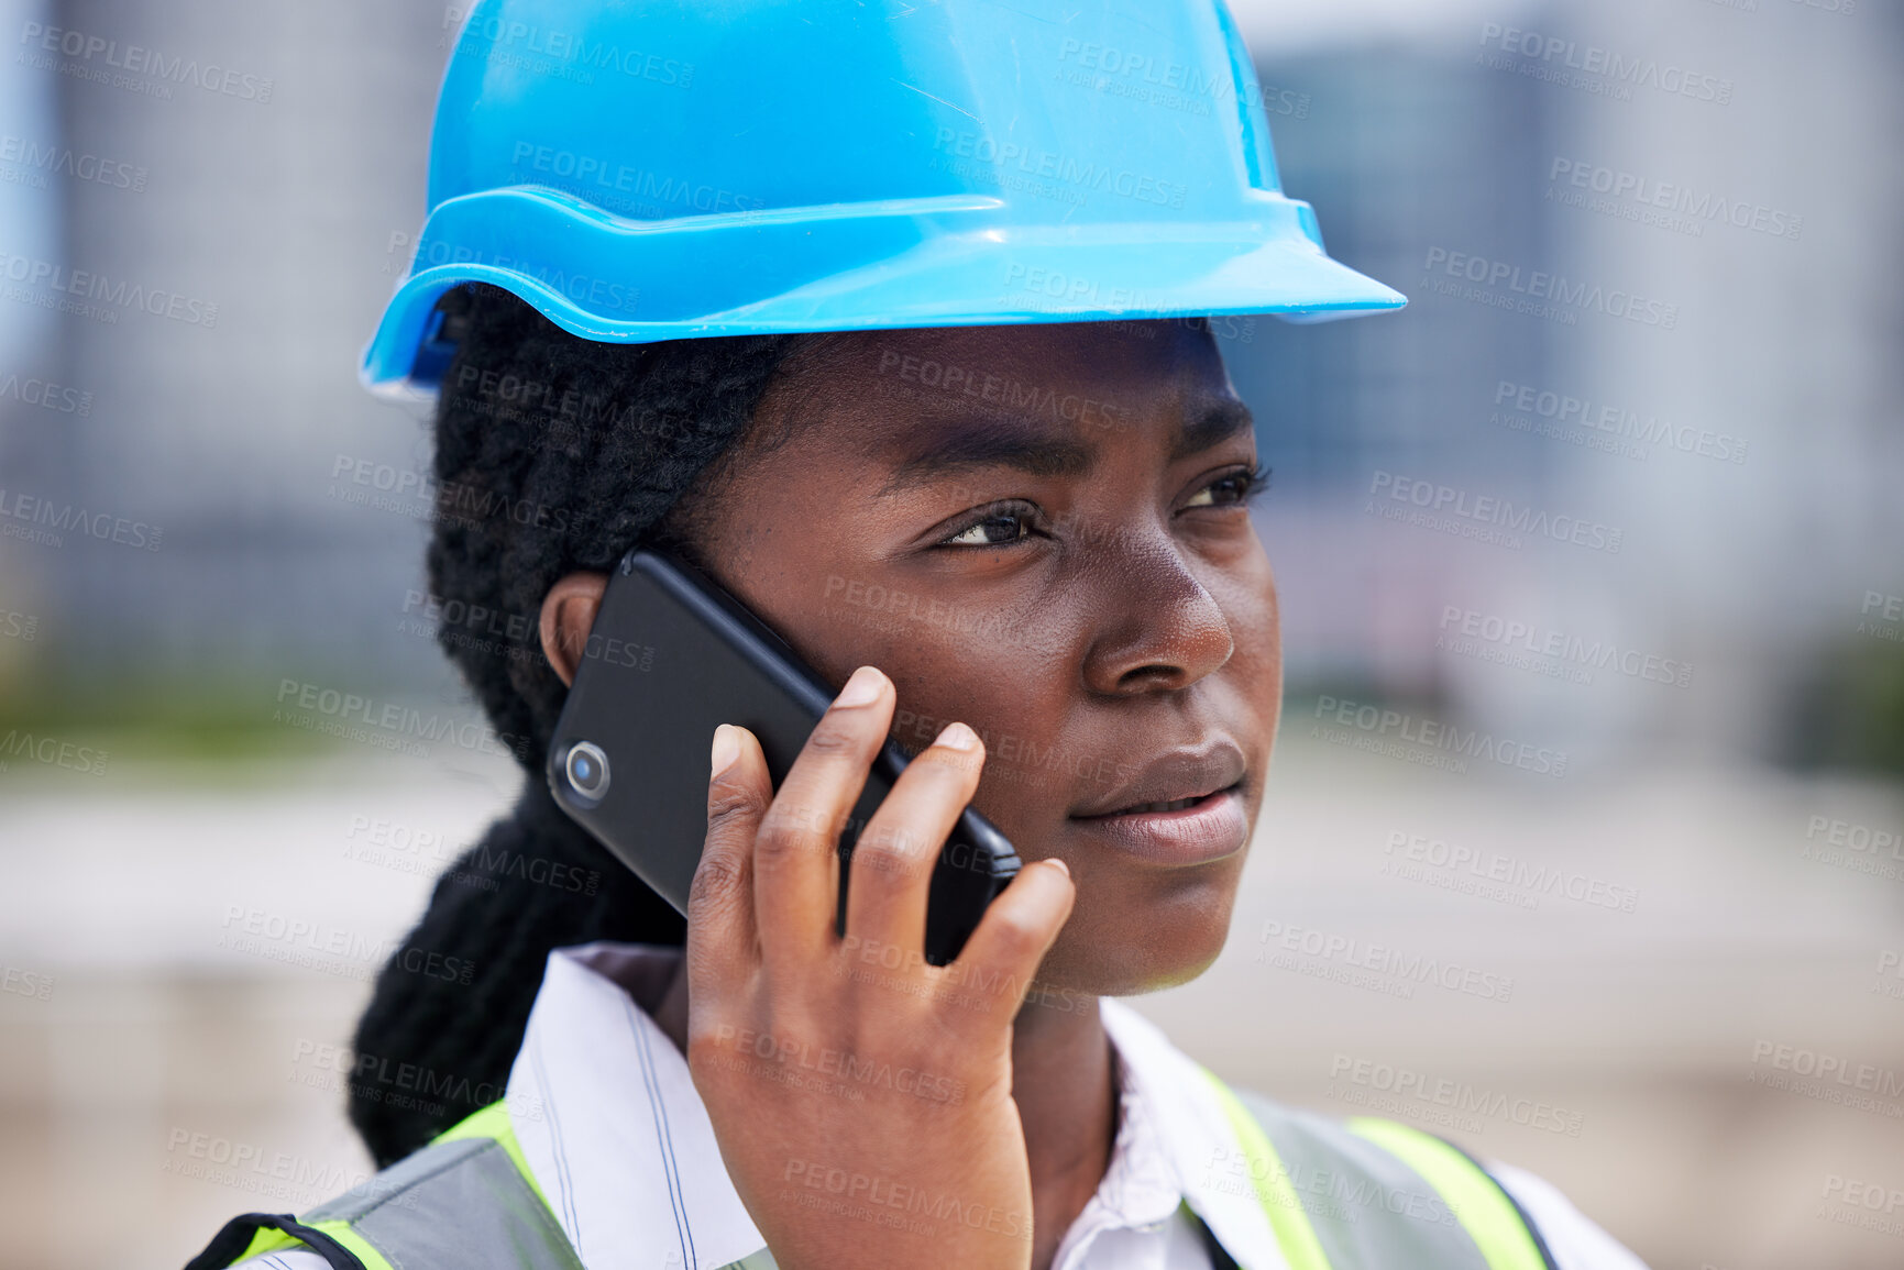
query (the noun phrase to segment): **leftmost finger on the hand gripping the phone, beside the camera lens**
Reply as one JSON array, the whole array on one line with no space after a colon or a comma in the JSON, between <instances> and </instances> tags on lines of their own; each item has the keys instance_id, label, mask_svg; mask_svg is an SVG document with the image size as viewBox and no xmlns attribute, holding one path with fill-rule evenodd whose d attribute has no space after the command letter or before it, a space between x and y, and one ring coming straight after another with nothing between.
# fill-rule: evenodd
<instances>
[{"instance_id":1,"label":"leftmost finger on the hand gripping the phone, beside the camera lens","mask_svg":"<svg viewBox=\"0 0 1904 1270\"><path fill-rule=\"evenodd\" d=\"M687 990L710 977L708 994L752 965L754 836L773 800L767 756L746 727L714 729L708 775L708 832L687 889Z\"/></svg>"}]
</instances>

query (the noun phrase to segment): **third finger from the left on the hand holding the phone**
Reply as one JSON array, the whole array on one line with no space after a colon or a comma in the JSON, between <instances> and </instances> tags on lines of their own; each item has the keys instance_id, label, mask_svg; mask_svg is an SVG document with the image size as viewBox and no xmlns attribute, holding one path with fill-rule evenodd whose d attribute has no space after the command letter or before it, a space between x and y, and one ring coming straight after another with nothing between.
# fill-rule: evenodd
<instances>
[{"instance_id":1,"label":"third finger from the left on the hand holding the phone","mask_svg":"<svg viewBox=\"0 0 1904 1270\"><path fill-rule=\"evenodd\" d=\"M853 843L845 931L872 946L923 954L925 906L946 834L979 788L984 743L965 724L946 724L906 764L893 790ZM920 962L923 965L923 962Z\"/></svg>"}]
</instances>

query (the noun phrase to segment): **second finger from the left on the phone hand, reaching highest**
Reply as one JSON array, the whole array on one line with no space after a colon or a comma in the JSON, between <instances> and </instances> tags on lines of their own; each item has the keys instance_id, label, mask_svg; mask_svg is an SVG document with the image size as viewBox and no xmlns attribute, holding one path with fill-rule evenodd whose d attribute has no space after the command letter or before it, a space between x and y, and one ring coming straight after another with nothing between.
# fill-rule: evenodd
<instances>
[{"instance_id":1,"label":"second finger from the left on the phone hand, reaching highest","mask_svg":"<svg viewBox=\"0 0 1904 1270\"><path fill-rule=\"evenodd\" d=\"M861 666L813 725L754 836L754 923L767 965L796 965L834 941L840 830L866 788L893 720L893 682Z\"/></svg>"}]
</instances>

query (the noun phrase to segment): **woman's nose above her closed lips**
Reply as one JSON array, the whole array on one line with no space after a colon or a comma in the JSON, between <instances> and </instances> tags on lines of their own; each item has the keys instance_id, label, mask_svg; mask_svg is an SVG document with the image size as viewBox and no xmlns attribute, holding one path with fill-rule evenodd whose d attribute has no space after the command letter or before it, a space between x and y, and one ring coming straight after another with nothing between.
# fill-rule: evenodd
<instances>
[{"instance_id":1,"label":"woman's nose above her closed lips","mask_svg":"<svg viewBox=\"0 0 1904 1270\"><path fill-rule=\"evenodd\" d=\"M1102 615L1083 663L1093 693L1188 687L1236 651L1222 605L1167 535L1102 552L1091 586Z\"/></svg>"}]
</instances>

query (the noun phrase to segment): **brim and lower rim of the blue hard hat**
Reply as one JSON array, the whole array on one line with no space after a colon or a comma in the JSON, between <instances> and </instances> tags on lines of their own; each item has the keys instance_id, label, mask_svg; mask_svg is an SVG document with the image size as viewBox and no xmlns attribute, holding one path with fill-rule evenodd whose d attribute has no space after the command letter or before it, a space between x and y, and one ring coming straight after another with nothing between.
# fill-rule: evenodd
<instances>
[{"instance_id":1,"label":"brim and lower rim of the blue hard hat","mask_svg":"<svg viewBox=\"0 0 1904 1270\"><path fill-rule=\"evenodd\" d=\"M453 198L425 227L360 377L381 396L432 392L442 358L419 350L438 299L466 282L512 291L571 335L623 345L1219 314L1327 322L1407 303L1329 259L1308 204L1279 194L1260 192L1249 219L1190 227L1011 225L1000 211L1000 200L960 196L628 221L556 190ZM760 267L735 270L735 255ZM708 286L716 261L743 280L725 295Z\"/></svg>"}]
</instances>

